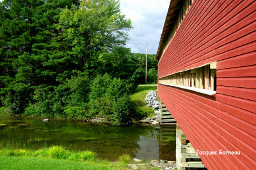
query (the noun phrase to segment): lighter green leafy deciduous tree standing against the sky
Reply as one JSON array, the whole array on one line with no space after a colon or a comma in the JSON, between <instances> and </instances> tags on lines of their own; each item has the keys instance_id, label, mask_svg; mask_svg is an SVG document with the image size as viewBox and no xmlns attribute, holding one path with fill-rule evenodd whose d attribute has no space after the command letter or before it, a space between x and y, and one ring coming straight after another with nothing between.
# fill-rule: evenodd
<instances>
[{"instance_id":1,"label":"lighter green leafy deciduous tree standing against the sky","mask_svg":"<svg viewBox=\"0 0 256 170\"><path fill-rule=\"evenodd\" d=\"M120 14L115 0L83 0L80 8L65 8L60 13L61 37L58 42L68 51L76 69L95 71L102 53L124 45L131 20Z\"/></svg>"}]
</instances>

